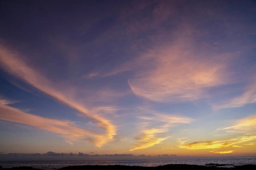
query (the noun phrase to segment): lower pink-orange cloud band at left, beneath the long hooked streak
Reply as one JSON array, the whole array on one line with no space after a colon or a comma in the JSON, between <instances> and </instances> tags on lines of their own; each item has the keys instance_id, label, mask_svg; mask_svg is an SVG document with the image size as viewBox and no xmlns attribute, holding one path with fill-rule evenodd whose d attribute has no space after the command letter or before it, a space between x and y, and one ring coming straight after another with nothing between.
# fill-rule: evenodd
<instances>
[{"instance_id":1,"label":"lower pink-orange cloud band at left, beneath the long hooked streak","mask_svg":"<svg viewBox=\"0 0 256 170\"><path fill-rule=\"evenodd\" d=\"M27 114L19 109L2 104L0 104L0 119L35 126L43 130L61 134L69 140L81 139L88 136L97 140L100 137L100 135L97 135L93 131L78 128L74 122Z\"/></svg>"}]
</instances>

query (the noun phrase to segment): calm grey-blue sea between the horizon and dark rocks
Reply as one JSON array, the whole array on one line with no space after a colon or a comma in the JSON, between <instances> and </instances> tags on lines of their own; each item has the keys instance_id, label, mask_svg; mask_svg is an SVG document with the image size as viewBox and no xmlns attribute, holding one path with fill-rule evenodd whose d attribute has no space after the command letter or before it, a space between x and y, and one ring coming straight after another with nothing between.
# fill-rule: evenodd
<instances>
[{"instance_id":1,"label":"calm grey-blue sea between the horizon and dark rocks","mask_svg":"<svg viewBox=\"0 0 256 170\"><path fill-rule=\"evenodd\" d=\"M129 166L159 166L167 164L233 164L256 165L256 157L218 157L218 158L179 158L179 159L151 159L151 160L83 160L83 161L1 161L3 168L30 166L45 170L54 170L67 166L79 165L129 165Z\"/></svg>"}]
</instances>

